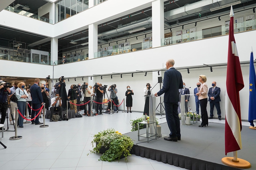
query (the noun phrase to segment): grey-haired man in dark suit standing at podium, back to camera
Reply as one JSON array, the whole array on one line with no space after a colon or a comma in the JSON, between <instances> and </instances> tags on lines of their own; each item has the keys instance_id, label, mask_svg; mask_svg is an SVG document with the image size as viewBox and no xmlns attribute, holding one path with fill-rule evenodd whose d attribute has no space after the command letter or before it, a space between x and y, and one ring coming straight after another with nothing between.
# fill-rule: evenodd
<instances>
[{"instance_id":1,"label":"grey-haired man in dark suit standing at podium, back to camera","mask_svg":"<svg viewBox=\"0 0 256 170\"><path fill-rule=\"evenodd\" d=\"M180 140L180 122L178 116L178 101L179 101L179 89L183 87L182 76L174 65L174 60L169 59L166 62L167 71L164 72L163 87L155 93L155 96L160 96L164 93L164 107L168 127L170 129L169 137L165 137L164 140L175 141Z\"/></svg>"}]
</instances>

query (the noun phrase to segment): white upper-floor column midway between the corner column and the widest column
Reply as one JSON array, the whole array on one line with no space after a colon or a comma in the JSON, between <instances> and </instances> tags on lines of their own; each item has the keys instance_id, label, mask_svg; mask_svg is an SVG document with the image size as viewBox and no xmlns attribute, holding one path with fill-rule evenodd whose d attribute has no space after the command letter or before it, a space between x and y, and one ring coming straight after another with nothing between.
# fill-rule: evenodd
<instances>
[{"instance_id":1,"label":"white upper-floor column midway between the corner column and the widest column","mask_svg":"<svg viewBox=\"0 0 256 170\"><path fill-rule=\"evenodd\" d=\"M98 49L98 26L97 24L89 25L89 59L94 58L94 53Z\"/></svg>"}]
</instances>

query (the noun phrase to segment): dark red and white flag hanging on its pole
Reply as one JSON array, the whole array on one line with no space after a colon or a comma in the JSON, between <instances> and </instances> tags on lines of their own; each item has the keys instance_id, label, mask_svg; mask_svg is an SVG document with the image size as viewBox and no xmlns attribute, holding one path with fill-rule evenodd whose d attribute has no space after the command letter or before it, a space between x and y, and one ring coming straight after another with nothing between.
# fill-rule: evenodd
<instances>
[{"instance_id":1,"label":"dark red and white flag hanging on its pole","mask_svg":"<svg viewBox=\"0 0 256 170\"><path fill-rule=\"evenodd\" d=\"M226 80L226 122L225 122L225 154L242 149L241 141L241 109L239 91L244 88L244 80L234 37L234 12L231 6L227 54Z\"/></svg>"}]
</instances>

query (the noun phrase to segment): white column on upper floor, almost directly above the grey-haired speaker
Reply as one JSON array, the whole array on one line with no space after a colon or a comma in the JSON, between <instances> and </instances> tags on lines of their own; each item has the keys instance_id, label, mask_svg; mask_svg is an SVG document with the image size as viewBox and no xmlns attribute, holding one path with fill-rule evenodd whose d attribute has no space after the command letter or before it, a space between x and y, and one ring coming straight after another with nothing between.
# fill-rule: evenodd
<instances>
[{"instance_id":1,"label":"white column on upper floor, almost directly above the grey-haired speaker","mask_svg":"<svg viewBox=\"0 0 256 170\"><path fill-rule=\"evenodd\" d=\"M164 38L164 0L152 2L152 47L160 47Z\"/></svg>"}]
</instances>

